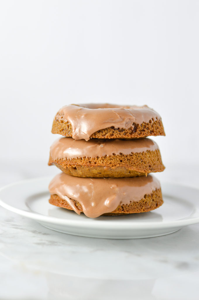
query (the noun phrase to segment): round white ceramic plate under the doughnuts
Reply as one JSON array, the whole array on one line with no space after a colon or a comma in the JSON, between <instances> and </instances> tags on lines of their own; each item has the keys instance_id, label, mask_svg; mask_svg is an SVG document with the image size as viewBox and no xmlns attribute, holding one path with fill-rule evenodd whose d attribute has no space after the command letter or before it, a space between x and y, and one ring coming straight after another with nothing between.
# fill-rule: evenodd
<instances>
[{"instance_id":1,"label":"round white ceramic plate under the doughnuts","mask_svg":"<svg viewBox=\"0 0 199 300\"><path fill-rule=\"evenodd\" d=\"M0 205L50 229L95 238L146 238L199 223L199 190L162 184L164 204L154 211L91 219L48 203L51 178L36 178L0 189Z\"/></svg>"}]
</instances>

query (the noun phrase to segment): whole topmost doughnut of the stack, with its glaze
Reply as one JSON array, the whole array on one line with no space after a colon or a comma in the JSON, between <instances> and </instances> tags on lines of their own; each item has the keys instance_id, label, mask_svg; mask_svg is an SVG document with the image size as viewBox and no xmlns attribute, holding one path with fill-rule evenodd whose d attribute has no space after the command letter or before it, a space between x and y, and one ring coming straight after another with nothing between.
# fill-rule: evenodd
<instances>
[{"instance_id":1,"label":"whole topmost doughnut of the stack, with its glaze","mask_svg":"<svg viewBox=\"0 0 199 300\"><path fill-rule=\"evenodd\" d=\"M114 104L71 104L54 117L52 133L75 140L137 139L165 135L161 117L152 108Z\"/></svg>"}]
</instances>

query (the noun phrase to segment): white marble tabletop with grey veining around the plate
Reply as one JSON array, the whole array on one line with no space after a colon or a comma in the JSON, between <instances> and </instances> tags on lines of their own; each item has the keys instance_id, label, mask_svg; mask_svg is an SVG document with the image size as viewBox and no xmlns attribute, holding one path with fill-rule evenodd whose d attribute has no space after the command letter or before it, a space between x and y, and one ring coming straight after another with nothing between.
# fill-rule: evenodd
<instances>
[{"instance_id":1,"label":"white marble tabletop with grey veining around the plate","mask_svg":"<svg viewBox=\"0 0 199 300\"><path fill-rule=\"evenodd\" d=\"M55 174L41 162L1 164L1 185ZM7 173L6 173L7 170ZM175 170L175 172L174 172ZM196 167L161 180L198 185ZM156 238L109 240L67 235L0 208L0 299L198 299L199 224Z\"/></svg>"}]
</instances>

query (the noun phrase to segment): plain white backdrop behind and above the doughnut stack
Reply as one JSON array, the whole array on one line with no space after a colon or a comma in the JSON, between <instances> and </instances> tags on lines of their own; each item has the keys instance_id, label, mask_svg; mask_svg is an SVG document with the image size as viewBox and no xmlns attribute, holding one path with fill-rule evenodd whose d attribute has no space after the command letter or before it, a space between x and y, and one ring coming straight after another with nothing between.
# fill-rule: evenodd
<instances>
[{"instance_id":1,"label":"plain white backdrop behind and above the doughnut stack","mask_svg":"<svg viewBox=\"0 0 199 300\"><path fill-rule=\"evenodd\" d=\"M199 1L1 1L1 164L47 175L60 107L111 102L157 110L165 166L196 167L198 29Z\"/></svg>"}]
</instances>

